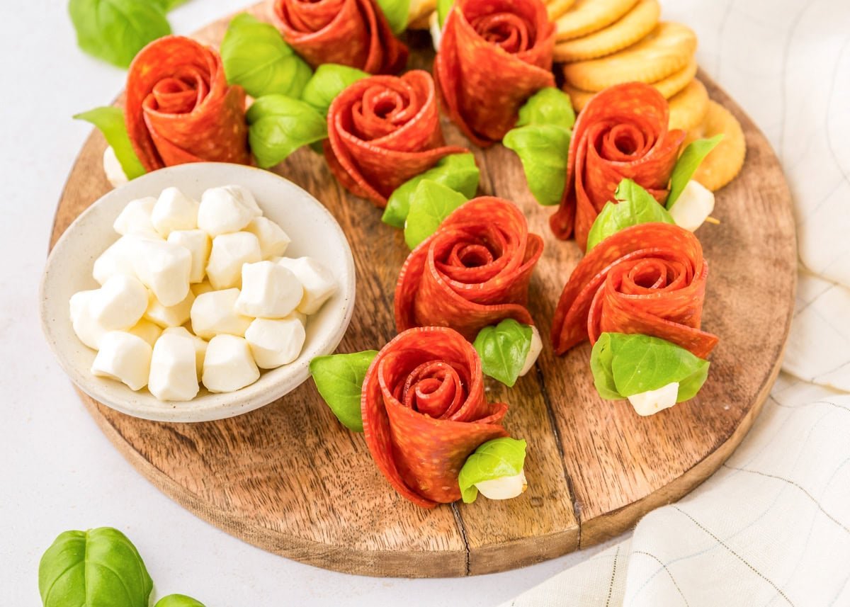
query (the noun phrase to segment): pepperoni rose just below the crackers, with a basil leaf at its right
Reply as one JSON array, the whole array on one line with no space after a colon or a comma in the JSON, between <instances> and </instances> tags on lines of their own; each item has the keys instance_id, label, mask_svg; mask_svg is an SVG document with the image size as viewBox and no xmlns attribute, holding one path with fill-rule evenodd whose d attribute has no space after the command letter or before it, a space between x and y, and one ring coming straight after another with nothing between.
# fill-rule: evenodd
<instances>
[{"instance_id":1,"label":"pepperoni rose just below the crackers, with a basil leaf at its right","mask_svg":"<svg viewBox=\"0 0 850 607\"><path fill-rule=\"evenodd\" d=\"M558 238L587 247L587 233L623 179L632 179L659 202L666 200L682 130L668 130L667 101L654 87L627 82L587 102L570 140L567 187L550 218Z\"/></svg>"}]
</instances>

